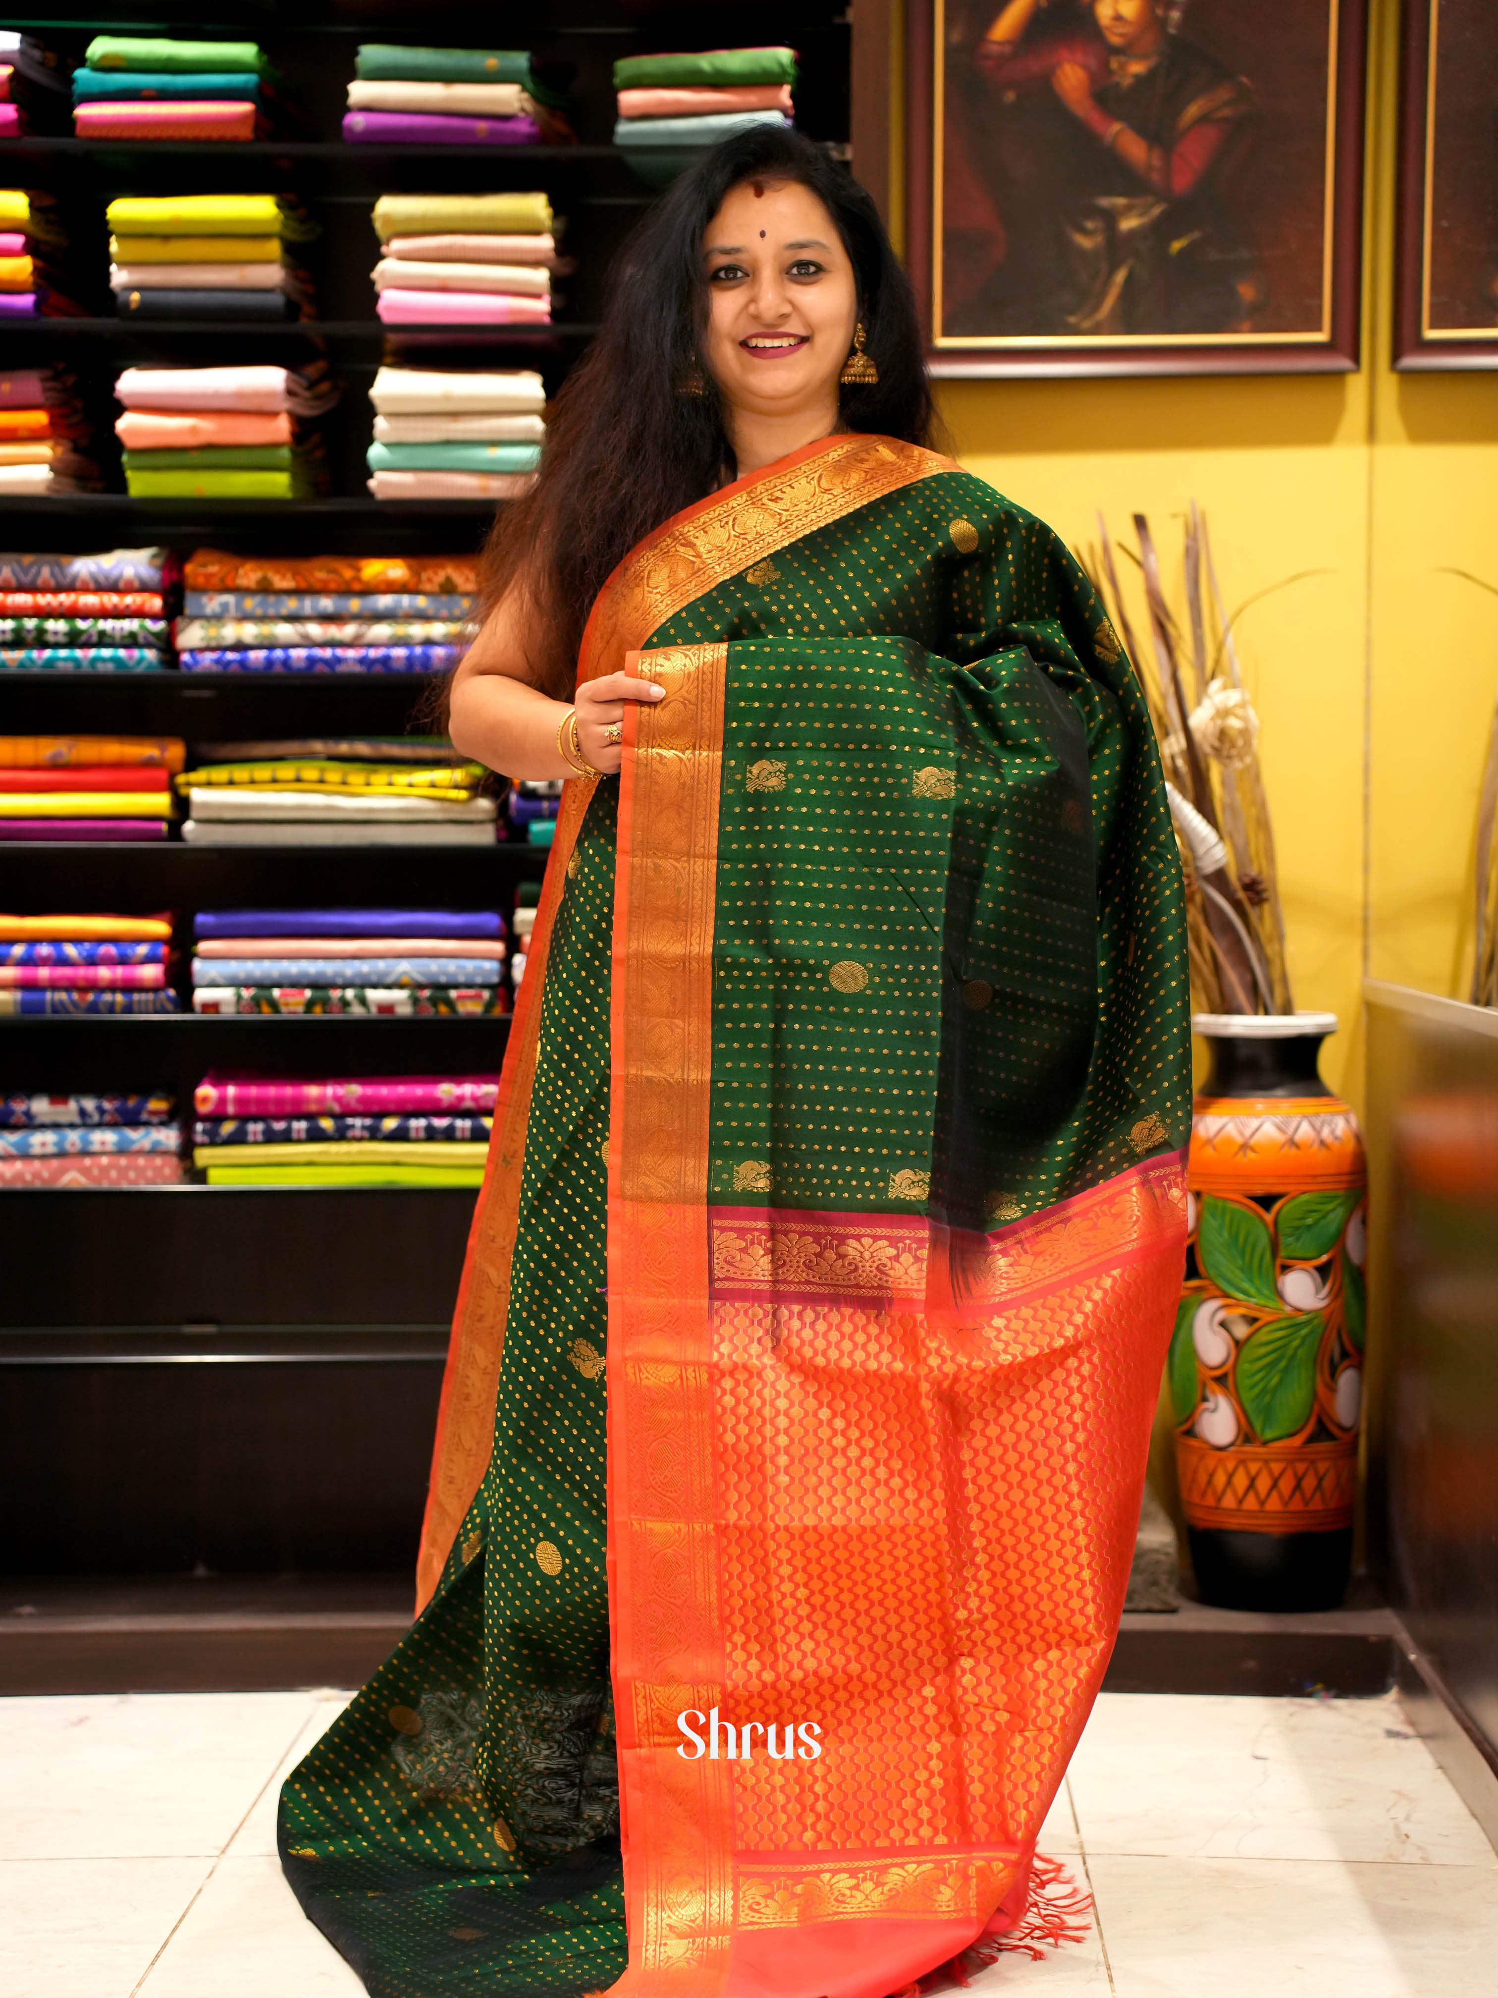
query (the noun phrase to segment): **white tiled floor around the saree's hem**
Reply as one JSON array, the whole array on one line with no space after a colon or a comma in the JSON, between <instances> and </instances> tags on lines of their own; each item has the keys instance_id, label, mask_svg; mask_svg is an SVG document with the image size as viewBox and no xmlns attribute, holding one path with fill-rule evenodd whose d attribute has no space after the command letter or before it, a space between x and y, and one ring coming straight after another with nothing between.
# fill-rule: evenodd
<instances>
[{"instance_id":1,"label":"white tiled floor around the saree's hem","mask_svg":"<svg viewBox=\"0 0 1498 1998\"><path fill-rule=\"evenodd\" d=\"M344 1694L0 1700L4 1998L358 1998L276 1864ZM1041 1840L1083 1944L987 1998L1490 1998L1498 1856L1394 1698L1105 1694Z\"/></svg>"}]
</instances>

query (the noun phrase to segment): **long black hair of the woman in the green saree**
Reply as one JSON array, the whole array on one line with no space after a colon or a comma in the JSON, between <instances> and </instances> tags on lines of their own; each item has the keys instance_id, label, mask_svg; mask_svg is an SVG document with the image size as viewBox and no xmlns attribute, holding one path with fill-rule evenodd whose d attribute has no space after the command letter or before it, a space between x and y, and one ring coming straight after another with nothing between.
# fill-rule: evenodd
<instances>
[{"instance_id":1,"label":"long black hair of the woman in the green saree","mask_svg":"<svg viewBox=\"0 0 1498 1998\"><path fill-rule=\"evenodd\" d=\"M747 180L799 182L829 210L853 262L879 382L843 388L847 430L927 444L931 382L911 284L867 192L809 138L753 126L723 140L647 210L609 272L597 340L555 400L541 470L503 507L485 549L485 605L523 579L531 659L547 693L571 693L583 625L635 541L713 492L733 452L697 362L707 332L703 234ZM681 394L697 366L705 396Z\"/></svg>"}]
</instances>

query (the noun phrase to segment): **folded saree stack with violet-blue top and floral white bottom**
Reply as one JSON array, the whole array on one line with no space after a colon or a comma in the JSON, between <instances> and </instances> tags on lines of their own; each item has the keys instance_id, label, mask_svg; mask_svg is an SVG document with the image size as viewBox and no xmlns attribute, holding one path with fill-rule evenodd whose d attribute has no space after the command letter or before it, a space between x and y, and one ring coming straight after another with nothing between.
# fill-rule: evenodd
<instances>
[{"instance_id":1,"label":"folded saree stack with violet-blue top and floral white bottom","mask_svg":"<svg viewBox=\"0 0 1498 1998\"><path fill-rule=\"evenodd\" d=\"M509 1011L505 925L487 909L202 909L194 935L196 1013Z\"/></svg>"}]
</instances>

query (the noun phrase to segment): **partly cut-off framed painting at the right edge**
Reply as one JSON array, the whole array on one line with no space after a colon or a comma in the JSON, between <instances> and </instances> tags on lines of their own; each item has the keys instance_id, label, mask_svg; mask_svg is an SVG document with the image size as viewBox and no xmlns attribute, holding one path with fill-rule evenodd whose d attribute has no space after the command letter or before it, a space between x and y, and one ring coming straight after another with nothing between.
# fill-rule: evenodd
<instances>
[{"instance_id":1,"label":"partly cut-off framed painting at the right edge","mask_svg":"<svg viewBox=\"0 0 1498 1998\"><path fill-rule=\"evenodd\" d=\"M1394 366L1498 368L1492 0L1404 0Z\"/></svg>"}]
</instances>

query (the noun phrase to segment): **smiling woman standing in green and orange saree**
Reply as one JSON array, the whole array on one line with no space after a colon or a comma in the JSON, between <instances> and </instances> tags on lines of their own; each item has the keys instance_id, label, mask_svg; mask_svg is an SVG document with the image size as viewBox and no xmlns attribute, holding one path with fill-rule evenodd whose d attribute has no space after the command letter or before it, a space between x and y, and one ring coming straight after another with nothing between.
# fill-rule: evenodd
<instances>
[{"instance_id":1,"label":"smiling woman standing in green and orange saree","mask_svg":"<svg viewBox=\"0 0 1498 1998\"><path fill-rule=\"evenodd\" d=\"M381 1998L883 1998L1025 1916L1180 1283L1184 943L1117 639L929 422L873 206L757 130L497 529L451 735L569 781L425 1606L282 1804Z\"/></svg>"}]
</instances>

